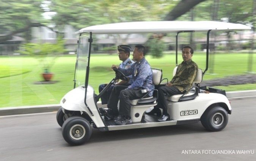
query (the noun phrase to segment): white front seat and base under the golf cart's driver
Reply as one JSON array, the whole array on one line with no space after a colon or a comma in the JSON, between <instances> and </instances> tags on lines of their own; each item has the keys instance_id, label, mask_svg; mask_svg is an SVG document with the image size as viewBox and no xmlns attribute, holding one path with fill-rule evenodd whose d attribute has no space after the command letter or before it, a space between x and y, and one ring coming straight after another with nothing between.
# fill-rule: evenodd
<instances>
[{"instance_id":1,"label":"white front seat and base under the golf cart's driver","mask_svg":"<svg viewBox=\"0 0 256 161\"><path fill-rule=\"evenodd\" d=\"M162 80L162 74L162 70L152 68L152 82L154 85L160 84ZM130 100L130 116L132 118L132 122L140 122L144 111L146 111L150 107L154 107L155 105L157 105L157 90L153 91L152 97L146 97L148 93L145 93L145 95L140 99Z\"/></svg>"}]
</instances>

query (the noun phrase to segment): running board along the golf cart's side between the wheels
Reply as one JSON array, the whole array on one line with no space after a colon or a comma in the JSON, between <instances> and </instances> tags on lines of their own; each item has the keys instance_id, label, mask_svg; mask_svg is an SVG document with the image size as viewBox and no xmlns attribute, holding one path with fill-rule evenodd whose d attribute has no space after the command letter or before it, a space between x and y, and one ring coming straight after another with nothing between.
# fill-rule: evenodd
<instances>
[{"instance_id":1,"label":"running board along the golf cart's side between the wheels","mask_svg":"<svg viewBox=\"0 0 256 161\"><path fill-rule=\"evenodd\" d=\"M159 127L159 126L170 126L176 125L177 121L164 121L164 122L146 122L146 123L133 123L129 125L110 125L108 126L109 131L113 130L126 130L126 129L133 129L133 128L146 128L146 127Z\"/></svg>"}]
</instances>

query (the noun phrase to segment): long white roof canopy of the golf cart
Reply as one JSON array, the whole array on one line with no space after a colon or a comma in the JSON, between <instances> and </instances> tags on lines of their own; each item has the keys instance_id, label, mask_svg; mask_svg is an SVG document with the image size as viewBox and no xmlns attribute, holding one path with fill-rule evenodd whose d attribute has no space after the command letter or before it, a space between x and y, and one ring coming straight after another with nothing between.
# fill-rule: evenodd
<instances>
[{"instance_id":1,"label":"long white roof canopy of the golf cart","mask_svg":"<svg viewBox=\"0 0 256 161\"><path fill-rule=\"evenodd\" d=\"M251 29L242 24L218 21L141 21L110 23L80 29L76 34L170 33L179 31L208 31Z\"/></svg>"}]
</instances>

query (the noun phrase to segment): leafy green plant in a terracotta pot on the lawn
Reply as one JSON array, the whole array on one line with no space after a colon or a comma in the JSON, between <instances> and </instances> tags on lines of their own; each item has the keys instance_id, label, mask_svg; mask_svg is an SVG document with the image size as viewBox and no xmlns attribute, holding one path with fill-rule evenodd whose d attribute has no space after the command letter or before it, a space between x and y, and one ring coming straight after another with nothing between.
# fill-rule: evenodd
<instances>
[{"instance_id":1,"label":"leafy green plant in a terracotta pot on the lawn","mask_svg":"<svg viewBox=\"0 0 256 161\"><path fill-rule=\"evenodd\" d=\"M59 37L57 43L25 43L21 46L19 52L38 58L43 66L42 77L44 81L50 81L53 76L50 68L56 61L57 56L63 54L64 51L64 40Z\"/></svg>"}]
</instances>

